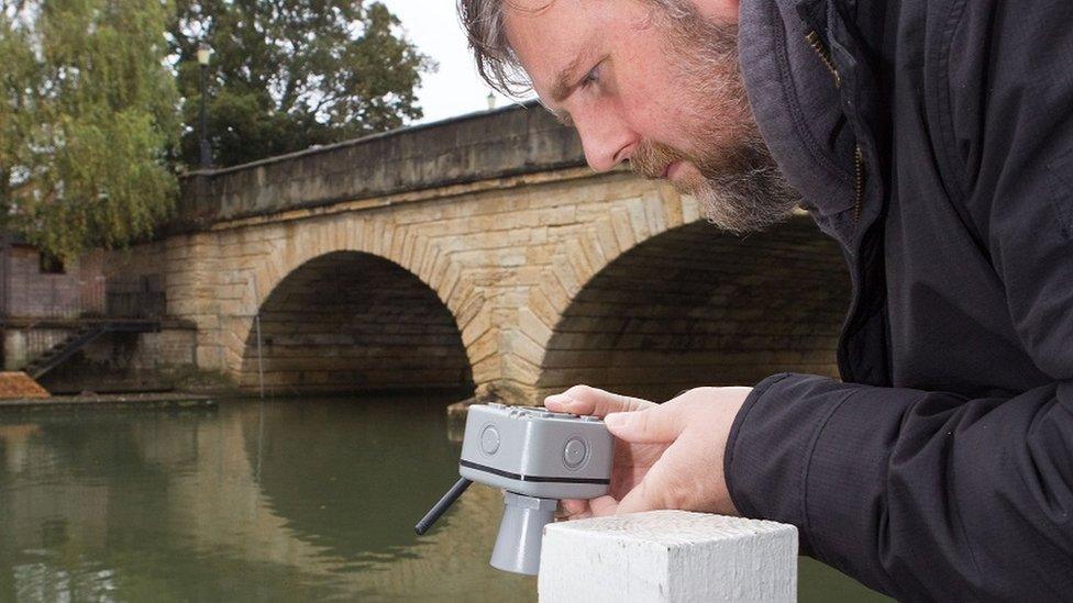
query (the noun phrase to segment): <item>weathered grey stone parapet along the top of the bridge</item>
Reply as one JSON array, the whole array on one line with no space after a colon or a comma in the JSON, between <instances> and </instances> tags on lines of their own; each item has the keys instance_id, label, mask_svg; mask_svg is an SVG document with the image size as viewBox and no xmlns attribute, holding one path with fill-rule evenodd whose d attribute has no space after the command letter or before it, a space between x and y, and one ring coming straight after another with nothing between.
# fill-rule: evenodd
<instances>
[{"instance_id":1,"label":"weathered grey stone parapet along the top of the bridge","mask_svg":"<svg viewBox=\"0 0 1073 603\"><path fill-rule=\"evenodd\" d=\"M584 163L577 135L528 103L192 172L172 230Z\"/></svg>"}]
</instances>

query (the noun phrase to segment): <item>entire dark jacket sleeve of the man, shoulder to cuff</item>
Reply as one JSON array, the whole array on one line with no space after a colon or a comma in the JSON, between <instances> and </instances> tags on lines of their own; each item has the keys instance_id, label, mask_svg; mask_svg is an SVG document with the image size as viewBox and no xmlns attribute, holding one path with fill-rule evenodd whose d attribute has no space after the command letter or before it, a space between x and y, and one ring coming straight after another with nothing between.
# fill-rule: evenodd
<instances>
[{"instance_id":1,"label":"entire dark jacket sleeve of the man, shoulder to cuff","mask_svg":"<svg viewBox=\"0 0 1073 603\"><path fill-rule=\"evenodd\" d=\"M1013 398L778 375L731 431L748 516L905 600L1073 598L1073 3L937 2L942 93L928 99L952 201L1052 381Z\"/></svg>"}]
</instances>

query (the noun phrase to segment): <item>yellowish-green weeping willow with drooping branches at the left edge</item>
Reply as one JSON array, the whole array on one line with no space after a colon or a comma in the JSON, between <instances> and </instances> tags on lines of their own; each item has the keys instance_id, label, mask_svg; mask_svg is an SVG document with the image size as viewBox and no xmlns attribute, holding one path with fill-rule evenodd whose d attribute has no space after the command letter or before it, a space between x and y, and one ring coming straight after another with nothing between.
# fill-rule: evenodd
<instances>
[{"instance_id":1,"label":"yellowish-green weeping willow with drooping branches at the left edge","mask_svg":"<svg viewBox=\"0 0 1073 603\"><path fill-rule=\"evenodd\" d=\"M168 14L143 0L0 0L0 228L66 258L168 214Z\"/></svg>"}]
</instances>

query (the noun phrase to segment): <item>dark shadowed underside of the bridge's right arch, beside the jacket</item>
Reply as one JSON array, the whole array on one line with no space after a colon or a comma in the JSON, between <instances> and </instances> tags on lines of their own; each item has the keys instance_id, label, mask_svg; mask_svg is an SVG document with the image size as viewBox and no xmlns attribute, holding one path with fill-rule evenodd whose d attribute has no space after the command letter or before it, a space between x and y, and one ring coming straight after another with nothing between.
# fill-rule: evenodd
<instances>
[{"instance_id":1,"label":"dark shadowed underside of the bridge's right arch, beside the jacket","mask_svg":"<svg viewBox=\"0 0 1073 603\"><path fill-rule=\"evenodd\" d=\"M837 245L807 217L745 238L686 224L583 287L547 344L538 395L587 383L667 400L785 370L837 376L849 293Z\"/></svg>"}]
</instances>

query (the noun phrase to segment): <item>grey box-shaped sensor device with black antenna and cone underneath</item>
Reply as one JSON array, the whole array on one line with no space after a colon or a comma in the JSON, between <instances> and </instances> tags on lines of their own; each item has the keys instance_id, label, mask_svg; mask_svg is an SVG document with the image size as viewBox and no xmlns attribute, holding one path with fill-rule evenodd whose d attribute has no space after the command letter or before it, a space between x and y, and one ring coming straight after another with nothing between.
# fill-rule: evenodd
<instances>
[{"instance_id":1,"label":"grey box-shaped sensor device with black antenna and cone underneath","mask_svg":"<svg viewBox=\"0 0 1073 603\"><path fill-rule=\"evenodd\" d=\"M594 499L611 483L611 434L595 416L535 406L474 404L466 416L462 479L413 527L424 534L472 482L504 490L504 515L491 566L540 571L544 526L560 499Z\"/></svg>"}]
</instances>

